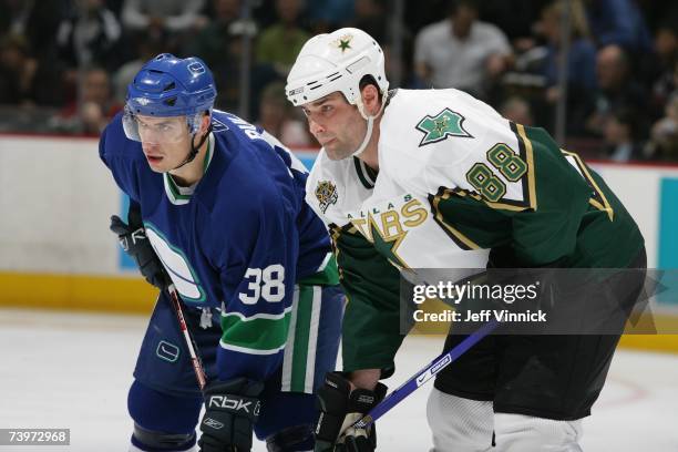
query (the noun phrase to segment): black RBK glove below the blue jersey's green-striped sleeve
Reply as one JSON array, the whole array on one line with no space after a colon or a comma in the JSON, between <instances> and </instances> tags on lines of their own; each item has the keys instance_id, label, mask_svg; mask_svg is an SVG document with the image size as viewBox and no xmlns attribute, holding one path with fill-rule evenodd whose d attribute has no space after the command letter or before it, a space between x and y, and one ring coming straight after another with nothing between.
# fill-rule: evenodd
<instances>
[{"instance_id":1,"label":"black RBK glove below the blue jersey's green-striped sleeve","mask_svg":"<svg viewBox=\"0 0 678 452\"><path fill-rule=\"evenodd\" d=\"M249 452L263 390L264 383L243 377L208 386L198 441L201 452Z\"/></svg>"}]
</instances>

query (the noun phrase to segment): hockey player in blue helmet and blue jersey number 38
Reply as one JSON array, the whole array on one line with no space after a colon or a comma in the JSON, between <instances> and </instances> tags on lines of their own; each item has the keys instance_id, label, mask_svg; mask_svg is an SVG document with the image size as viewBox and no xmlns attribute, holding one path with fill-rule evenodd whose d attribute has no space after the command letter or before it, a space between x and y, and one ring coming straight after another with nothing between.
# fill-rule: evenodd
<instances>
[{"instance_id":1,"label":"hockey player in blue helmet and blue jersey number 38","mask_svg":"<svg viewBox=\"0 0 678 452\"><path fill-rule=\"evenodd\" d=\"M161 290L134 371L131 451L314 448L314 392L333 370L343 302L306 170L275 137L213 111L197 58L161 54L127 90L100 155L130 196L111 228L151 284L171 281L207 373L198 390ZM196 425L201 408L201 438Z\"/></svg>"}]
</instances>

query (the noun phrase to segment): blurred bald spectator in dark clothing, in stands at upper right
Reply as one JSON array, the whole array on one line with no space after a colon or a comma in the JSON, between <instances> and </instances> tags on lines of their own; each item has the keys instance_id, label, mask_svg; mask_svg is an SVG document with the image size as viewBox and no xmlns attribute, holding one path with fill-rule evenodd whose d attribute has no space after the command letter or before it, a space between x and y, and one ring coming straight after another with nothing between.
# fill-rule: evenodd
<instances>
[{"instance_id":1,"label":"blurred bald spectator in dark clothing, in stands at upper right","mask_svg":"<svg viewBox=\"0 0 678 452\"><path fill-rule=\"evenodd\" d=\"M614 112L633 110L638 123L647 121L647 92L630 74L628 55L619 45L607 45L596 55L598 93L594 113L586 127L595 135L605 133L606 121ZM641 124L647 127L647 124Z\"/></svg>"}]
</instances>

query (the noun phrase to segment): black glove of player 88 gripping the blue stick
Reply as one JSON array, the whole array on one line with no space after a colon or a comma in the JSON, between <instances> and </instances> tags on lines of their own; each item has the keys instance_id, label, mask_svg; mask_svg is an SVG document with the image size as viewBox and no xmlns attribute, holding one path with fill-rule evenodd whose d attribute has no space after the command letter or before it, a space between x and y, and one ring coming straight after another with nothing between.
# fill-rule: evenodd
<instances>
[{"instance_id":1,"label":"black glove of player 88 gripping the blue stick","mask_svg":"<svg viewBox=\"0 0 678 452\"><path fill-rule=\"evenodd\" d=\"M387 387L373 391L353 389L341 372L328 372L318 390L320 419L316 428L316 452L372 452L377 448L374 424L367 429L351 425L383 400Z\"/></svg>"}]
</instances>

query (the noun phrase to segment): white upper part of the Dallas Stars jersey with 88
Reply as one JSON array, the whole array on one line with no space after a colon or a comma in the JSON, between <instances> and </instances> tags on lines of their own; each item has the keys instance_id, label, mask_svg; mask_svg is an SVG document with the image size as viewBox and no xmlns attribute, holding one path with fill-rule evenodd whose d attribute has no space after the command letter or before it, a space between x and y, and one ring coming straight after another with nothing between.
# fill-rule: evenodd
<instances>
[{"instance_id":1,"label":"white upper part of the Dallas Stars jersey with 88","mask_svg":"<svg viewBox=\"0 0 678 452\"><path fill-rule=\"evenodd\" d=\"M378 177L358 158L331 161L321 150L307 202L328 226L351 224L389 244L399 267L484 267L487 250L448 224L436 199L482 193L490 205L531 207L532 150L512 127L462 91L398 90L381 120Z\"/></svg>"}]
</instances>

